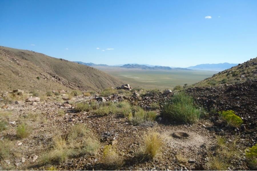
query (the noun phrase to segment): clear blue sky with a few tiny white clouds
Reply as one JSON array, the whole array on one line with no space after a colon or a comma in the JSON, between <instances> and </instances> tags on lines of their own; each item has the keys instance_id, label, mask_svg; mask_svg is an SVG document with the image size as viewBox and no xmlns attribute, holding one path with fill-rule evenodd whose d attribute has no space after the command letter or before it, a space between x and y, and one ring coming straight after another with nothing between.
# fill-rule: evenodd
<instances>
[{"instance_id":1,"label":"clear blue sky with a few tiny white clouds","mask_svg":"<svg viewBox=\"0 0 257 171\"><path fill-rule=\"evenodd\" d=\"M96 64L257 56L257 1L0 1L0 45ZM99 49L97 49L99 48Z\"/></svg>"}]
</instances>

